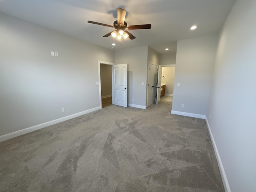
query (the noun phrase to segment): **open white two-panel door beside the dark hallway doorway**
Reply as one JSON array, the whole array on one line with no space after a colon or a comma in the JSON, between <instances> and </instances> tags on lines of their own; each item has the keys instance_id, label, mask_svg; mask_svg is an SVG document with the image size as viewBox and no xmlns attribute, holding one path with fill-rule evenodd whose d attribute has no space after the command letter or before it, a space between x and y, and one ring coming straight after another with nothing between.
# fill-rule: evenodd
<instances>
[{"instance_id":1,"label":"open white two-panel door beside the dark hallway doorway","mask_svg":"<svg viewBox=\"0 0 256 192\"><path fill-rule=\"evenodd\" d=\"M127 107L127 64L112 66L112 104Z\"/></svg>"}]
</instances>

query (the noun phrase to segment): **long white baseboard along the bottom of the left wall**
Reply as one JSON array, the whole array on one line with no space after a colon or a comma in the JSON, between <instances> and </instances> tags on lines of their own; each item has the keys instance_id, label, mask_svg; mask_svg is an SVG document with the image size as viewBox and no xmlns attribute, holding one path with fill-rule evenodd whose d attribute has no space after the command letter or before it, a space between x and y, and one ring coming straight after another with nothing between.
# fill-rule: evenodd
<instances>
[{"instance_id":1,"label":"long white baseboard along the bottom of the left wall","mask_svg":"<svg viewBox=\"0 0 256 192\"><path fill-rule=\"evenodd\" d=\"M48 127L50 125L54 125L54 124L57 124L57 123L60 123L60 122L78 117L78 116L81 116L81 115L84 115L84 114L87 114L87 113L90 113L90 112L94 112L94 111L99 110L99 109L100 109L100 107L92 108L92 109L82 111L82 112L79 112L79 113L76 113L76 114L72 114L72 115L69 115L69 116L66 116L66 117L62 117L62 118L59 118L59 119L48 121L46 123L42 123L42 124L35 125L35 126L29 127L29 128L18 130L18 131L12 132L12 133L8 133L6 135L2 135L2 136L0 136L0 142L11 139L11 138L14 138L14 137L17 137L17 136L20 136L20 135L23 135L23 134L26 134L26 133L29 133L29 132L32 132L32 131L35 131L35 130L38 130L38 129Z\"/></svg>"}]
</instances>

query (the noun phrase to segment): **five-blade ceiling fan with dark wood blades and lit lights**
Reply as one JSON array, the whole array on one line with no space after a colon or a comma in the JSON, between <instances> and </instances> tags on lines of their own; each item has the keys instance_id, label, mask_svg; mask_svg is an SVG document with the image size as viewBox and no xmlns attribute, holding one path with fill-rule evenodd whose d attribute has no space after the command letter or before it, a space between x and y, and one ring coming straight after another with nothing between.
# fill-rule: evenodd
<instances>
[{"instance_id":1,"label":"five-blade ceiling fan with dark wood blades and lit lights","mask_svg":"<svg viewBox=\"0 0 256 192\"><path fill-rule=\"evenodd\" d=\"M126 16L126 10L122 8L117 9L117 20L114 21L114 25L108 25L103 23L98 23L94 21L88 21L88 23L96 24L96 25L102 25L107 26L111 28L115 28L116 30L109 32L108 34L104 35L103 37L108 37L112 35L112 37L116 38L117 40L121 40L122 38L130 38L135 39L135 37L126 30L134 30L134 29L151 29L151 24L144 24L144 25L130 25L127 26L127 23L124 21Z\"/></svg>"}]
</instances>

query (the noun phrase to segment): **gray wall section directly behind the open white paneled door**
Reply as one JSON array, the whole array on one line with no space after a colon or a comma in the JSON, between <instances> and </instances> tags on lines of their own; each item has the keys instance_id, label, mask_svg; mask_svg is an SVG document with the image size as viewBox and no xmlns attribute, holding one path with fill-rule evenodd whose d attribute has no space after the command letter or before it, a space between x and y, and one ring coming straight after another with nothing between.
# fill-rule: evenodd
<instances>
[{"instance_id":1,"label":"gray wall section directly behind the open white paneled door","mask_svg":"<svg viewBox=\"0 0 256 192\"><path fill-rule=\"evenodd\" d=\"M115 52L115 64L127 63L128 104L146 106L147 58L148 46Z\"/></svg>"}]
</instances>

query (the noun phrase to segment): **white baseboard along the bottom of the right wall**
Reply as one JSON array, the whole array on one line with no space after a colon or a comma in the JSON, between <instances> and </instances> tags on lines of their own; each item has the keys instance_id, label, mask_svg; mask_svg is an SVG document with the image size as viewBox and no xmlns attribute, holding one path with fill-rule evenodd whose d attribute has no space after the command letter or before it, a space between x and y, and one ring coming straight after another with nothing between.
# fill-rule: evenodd
<instances>
[{"instance_id":1,"label":"white baseboard along the bottom of the right wall","mask_svg":"<svg viewBox=\"0 0 256 192\"><path fill-rule=\"evenodd\" d=\"M225 188L225 192L231 192L229 184L228 184L228 179L227 179L224 167L223 167L221 159L220 159L220 154L218 152L216 143L215 143L213 135L212 135L212 131L210 129L209 122L208 122L207 118L205 118L205 120L206 120L207 128L208 128L208 131L209 131L209 134L210 134L210 138L212 140L212 146L214 148L215 156L216 156L219 168L220 168L220 175L221 175L222 182L223 182L223 185L224 185L224 188Z\"/></svg>"}]
</instances>

